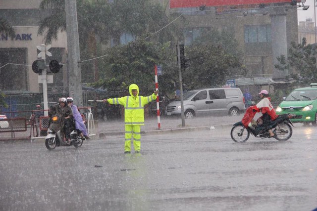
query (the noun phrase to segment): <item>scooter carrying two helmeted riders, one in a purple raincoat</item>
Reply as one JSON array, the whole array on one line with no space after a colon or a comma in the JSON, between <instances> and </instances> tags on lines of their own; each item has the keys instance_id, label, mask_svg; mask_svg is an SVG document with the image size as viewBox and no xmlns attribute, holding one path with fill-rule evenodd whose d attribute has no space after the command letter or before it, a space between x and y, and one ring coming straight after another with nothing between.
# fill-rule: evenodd
<instances>
[{"instance_id":1,"label":"scooter carrying two helmeted riders, one in a purple raincoat","mask_svg":"<svg viewBox=\"0 0 317 211\"><path fill-rule=\"evenodd\" d=\"M45 137L46 148L48 148L49 150L53 150L55 149L55 147L59 146L81 147L85 138L81 138L80 133L78 133L76 129L71 131L69 141L63 141L63 137L61 134L61 122L62 117L60 115L55 114L50 118L48 135Z\"/></svg>"}]
</instances>

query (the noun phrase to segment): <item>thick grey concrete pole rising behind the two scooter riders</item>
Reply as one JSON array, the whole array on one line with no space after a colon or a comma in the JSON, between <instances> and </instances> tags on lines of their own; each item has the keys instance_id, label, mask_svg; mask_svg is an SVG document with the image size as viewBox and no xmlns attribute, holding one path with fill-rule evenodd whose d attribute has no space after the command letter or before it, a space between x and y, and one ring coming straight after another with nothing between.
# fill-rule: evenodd
<instances>
[{"instance_id":1,"label":"thick grey concrete pole rising behind the two scooter riders","mask_svg":"<svg viewBox=\"0 0 317 211\"><path fill-rule=\"evenodd\" d=\"M83 106L83 91L81 86L80 49L77 23L76 0L65 0L68 89L75 103Z\"/></svg>"}]
</instances>

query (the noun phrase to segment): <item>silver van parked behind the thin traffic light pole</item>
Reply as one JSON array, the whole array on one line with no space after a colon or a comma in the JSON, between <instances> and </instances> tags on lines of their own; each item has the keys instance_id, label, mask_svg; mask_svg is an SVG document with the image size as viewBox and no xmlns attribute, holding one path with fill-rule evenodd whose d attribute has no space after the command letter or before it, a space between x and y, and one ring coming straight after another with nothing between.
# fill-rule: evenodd
<instances>
[{"instance_id":1,"label":"silver van parked behind the thin traffic light pole","mask_svg":"<svg viewBox=\"0 0 317 211\"><path fill-rule=\"evenodd\" d=\"M245 111L244 97L240 88L206 88L183 94L185 118L195 115L224 114L236 116ZM180 115L180 100L167 105L166 115Z\"/></svg>"}]
</instances>

